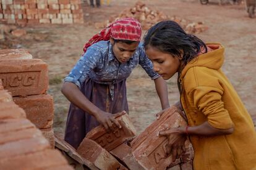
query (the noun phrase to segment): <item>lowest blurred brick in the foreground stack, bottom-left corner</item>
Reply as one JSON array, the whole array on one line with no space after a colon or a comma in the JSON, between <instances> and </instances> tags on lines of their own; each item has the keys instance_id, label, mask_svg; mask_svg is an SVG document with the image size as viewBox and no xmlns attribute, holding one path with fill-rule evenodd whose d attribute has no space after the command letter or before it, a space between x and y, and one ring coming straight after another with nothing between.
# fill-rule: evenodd
<instances>
[{"instance_id":1,"label":"lowest blurred brick in the foreground stack, bottom-left corner","mask_svg":"<svg viewBox=\"0 0 256 170\"><path fill-rule=\"evenodd\" d=\"M53 167L72 169L57 150L47 149L0 160L0 169L51 169Z\"/></svg>"}]
</instances>

